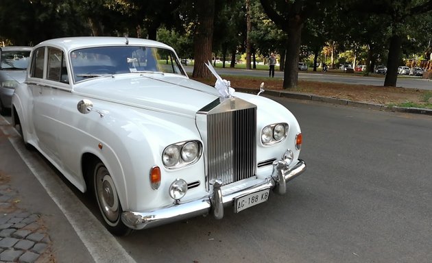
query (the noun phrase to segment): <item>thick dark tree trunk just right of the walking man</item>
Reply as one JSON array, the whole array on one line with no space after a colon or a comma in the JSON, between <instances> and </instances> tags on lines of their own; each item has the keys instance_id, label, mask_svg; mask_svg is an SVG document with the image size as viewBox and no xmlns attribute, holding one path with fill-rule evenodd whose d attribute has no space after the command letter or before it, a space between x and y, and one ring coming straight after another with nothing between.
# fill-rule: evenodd
<instances>
[{"instance_id":1,"label":"thick dark tree trunk just right of the walking man","mask_svg":"<svg viewBox=\"0 0 432 263\"><path fill-rule=\"evenodd\" d=\"M287 58L285 60L285 72L283 88L293 90L298 82L298 54L302 38L303 23L298 17L291 18L288 27Z\"/></svg>"}]
</instances>

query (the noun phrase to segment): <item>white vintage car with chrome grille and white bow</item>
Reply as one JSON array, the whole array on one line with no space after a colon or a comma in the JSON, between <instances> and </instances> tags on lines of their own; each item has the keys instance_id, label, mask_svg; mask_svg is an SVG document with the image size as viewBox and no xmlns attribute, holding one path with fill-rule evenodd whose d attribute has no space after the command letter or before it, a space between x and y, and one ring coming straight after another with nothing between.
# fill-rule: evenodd
<instances>
[{"instance_id":1,"label":"white vintage car with chrome grille and white bow","mask_svg":"<svg viewBox=\"0 0 432 263\"><path fill-rule=\"evenodd\" d=\"M289 110L225 80L224 90L189 79L163 43L59 38L30 59L13 125L74 186L95 192L113 234L241 212L306 169Z\"/></svg>"}]
</instances>

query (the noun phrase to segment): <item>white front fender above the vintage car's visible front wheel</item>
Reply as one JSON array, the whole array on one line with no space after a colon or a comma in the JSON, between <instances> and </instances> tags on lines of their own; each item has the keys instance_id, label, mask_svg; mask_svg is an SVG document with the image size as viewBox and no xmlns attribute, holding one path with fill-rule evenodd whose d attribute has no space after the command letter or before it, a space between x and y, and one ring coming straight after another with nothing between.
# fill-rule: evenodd
<instances>
[{"instance_id":1,"label":"white front fender above the vintage car's visible front wheel","mask_svg":"<svg viewBox=\"0 0 432 263\"><path fill-rule=\"evenodd\" d=\"M63 135L59 136L62 141L58 145L65 170L81 171L82 158L74 156L86 153L97 156L111 173L123 210L143 210L171 203L168 188L177 177L191 181L202 175L204 181L203 160L177 171L165 168L162 163L162 152L168 145L201 140L194 118L93 100L95 110L104 113L101 117L97 112L81 114L76 110L77 101L75 98L60 108L64 121L59 129ZM72 122L68 124L67 119ZM159 166L162 173L158 190L149 184L152 166ZM79 175L82 184L83 175L82 171Z\"/></svg>"}]
</instances>

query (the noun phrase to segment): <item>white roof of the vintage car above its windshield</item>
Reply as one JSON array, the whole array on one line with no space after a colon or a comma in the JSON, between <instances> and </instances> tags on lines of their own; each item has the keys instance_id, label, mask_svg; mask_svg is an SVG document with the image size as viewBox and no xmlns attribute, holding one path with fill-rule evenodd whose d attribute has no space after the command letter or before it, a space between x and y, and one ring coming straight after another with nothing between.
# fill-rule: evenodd
<instances>
[{"instance_id":1,"label":"white roof of the vintage car above its windshield","mask_svg":"<svg viewBox=\"0 0 432 263\"><path fill-rule=\"evenodd\" d=\"M77 36L70 38L54 38L40 42L39 46L53 46L63 48L65 50L79 49L82 47L101 47L101 46L119 46L119 45L138 45L146 47L163 47L172 49L168 45L154 40L142 38L125 38L115 36Z\"/></svg>"}]
</instances>

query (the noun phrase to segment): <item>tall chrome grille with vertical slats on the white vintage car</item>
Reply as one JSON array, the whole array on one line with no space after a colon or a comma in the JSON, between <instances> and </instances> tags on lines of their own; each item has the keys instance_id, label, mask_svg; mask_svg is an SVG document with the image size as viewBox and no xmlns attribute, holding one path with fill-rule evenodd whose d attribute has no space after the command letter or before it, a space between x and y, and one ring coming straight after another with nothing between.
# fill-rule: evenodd
<instances>
[{"instance_id":1,"label":"tall chrome grille with vertical slats on the white vintage car","mask_svg":"<svg viewBox=\"0 0 432 263\"><path fill-rule=\"evenodd\" d=\"M252 104L249 104L252 105ZM207 114L208 180L224 185L256 175L256 106Z\"/></svg>"}]
</instances>

